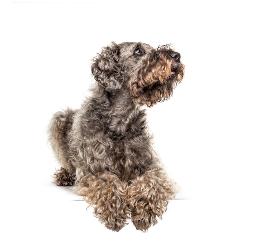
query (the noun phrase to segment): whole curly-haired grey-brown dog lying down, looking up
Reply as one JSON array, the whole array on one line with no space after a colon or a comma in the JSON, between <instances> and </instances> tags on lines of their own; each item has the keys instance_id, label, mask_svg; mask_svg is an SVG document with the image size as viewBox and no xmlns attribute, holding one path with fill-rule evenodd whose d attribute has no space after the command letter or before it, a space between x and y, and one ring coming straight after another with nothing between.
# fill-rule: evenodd
<instances>
[{"instance_id":1,"label":"whole curly-haired grey-brown dog lying down, looking up","mask_svg":"<svg viewBox=\"0 0 256 248\"><path fill-rule=\"evenodd\" d=\"M130 218L146 231L177 192L152 148L142 105L168 99L184 75L170 46L124 42L93 59L96 84L81 109L57 112L49 140L61 168L55 184L73 185L94 214L119 231Z\"/></svg>"}]
</instances>

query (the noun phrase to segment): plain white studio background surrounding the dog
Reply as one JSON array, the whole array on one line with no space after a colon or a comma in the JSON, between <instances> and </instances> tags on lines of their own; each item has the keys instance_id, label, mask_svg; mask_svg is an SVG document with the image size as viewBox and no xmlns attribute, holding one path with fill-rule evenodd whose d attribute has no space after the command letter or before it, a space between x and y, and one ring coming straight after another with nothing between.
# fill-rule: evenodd
<instances>
[{"instance_id":1,"label":"plain white studio background surrounding the dog","mask_svg":"<svg viewBox=\"0 0 256 248\"><path fill-rule=\"evenodd\" d=\"M46 3L48 2L48 3ZM1 247L255 247L252 1L0 3ZM144 234L107 230L52 184L55 111L80 106L90 59L111 41L171 43L186 66L148 109L155 147L186 200Z\"/></svg>"}]
</instances>

